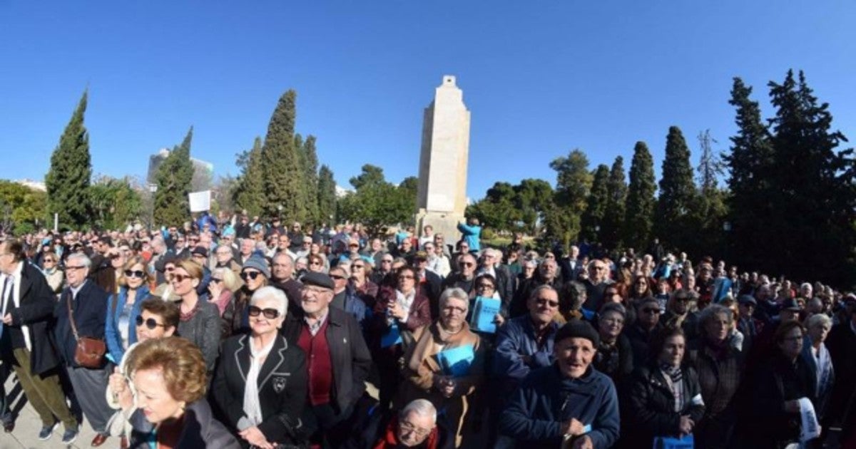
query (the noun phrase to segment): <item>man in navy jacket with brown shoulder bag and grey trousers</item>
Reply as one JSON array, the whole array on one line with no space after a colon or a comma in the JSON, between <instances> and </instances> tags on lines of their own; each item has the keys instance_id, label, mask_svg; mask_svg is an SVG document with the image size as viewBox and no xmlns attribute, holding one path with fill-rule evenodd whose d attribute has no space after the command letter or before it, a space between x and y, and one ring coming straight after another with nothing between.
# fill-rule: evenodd
<instances>
[{"instance_id":1,"label":"man in navy jacket with brown shoulder bag and grey trousers","mask_svg":"<svg viewBox=\"0 0 856 449\"><path fill-rule=\"evenodd\" d=\"M86 421L96 432L92 446L101 446L109 435L107 423L113 415L104 398L110 375L104 366L106 359L98 368L86 368L80 366L74 357L79 337L104 340L108 295L95 282L86 280L91 263L83 254L68 257L65 264L68 287L62 291L54 309L56 327L53 330L60 358L74 388L74 397Z\"/></svg>"}]
</instances>

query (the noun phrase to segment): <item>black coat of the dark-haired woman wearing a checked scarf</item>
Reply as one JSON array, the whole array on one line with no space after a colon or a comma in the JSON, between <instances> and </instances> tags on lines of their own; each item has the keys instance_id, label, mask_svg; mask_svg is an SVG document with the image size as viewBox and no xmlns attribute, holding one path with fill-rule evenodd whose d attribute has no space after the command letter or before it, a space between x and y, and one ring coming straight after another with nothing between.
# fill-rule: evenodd
<instances>
[{"instance_id":1,"label":"black coat of the dark-haired woman wearing a checked scarf","mask_svg":"<svg viewBox=\"0 0 856 449\"><path fill-rule=\"evenodd\" d=\"M633 371L633 381L625 402L624 417L627 431L622 435L640 446L651 446L655 436L677 436L681 433L681 417L689 415L693 422L704 416L704 402L698 374L690 366L682 369L684 401L681 411L675 411L675 394L663 371L653 363Z\"/></svg>"}]
</instances>

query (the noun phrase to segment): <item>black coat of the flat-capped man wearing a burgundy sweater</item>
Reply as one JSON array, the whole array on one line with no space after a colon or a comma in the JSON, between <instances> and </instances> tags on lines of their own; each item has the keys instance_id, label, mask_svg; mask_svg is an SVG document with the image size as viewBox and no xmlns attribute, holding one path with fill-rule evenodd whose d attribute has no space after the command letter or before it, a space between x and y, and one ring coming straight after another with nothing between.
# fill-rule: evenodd
<instances>
[{"instance_id":1,"label":"black coat of the flat-capped man wearing a burgundy sweater","mask_svg":"<svg viewBox=\"0 0 856 449\"><path fill-rule=\"evenodd\" d=\"M360 323L345 310L330 307L327 312L327 342L330 346L330 362L333 365L333 392L337 412L348 409L366 391L366 378L372 369L366 340L360 331ZM300 316L289 315L281 332L288 344L297 346L300 332L306 323Z\"/></svg>"}]
</instances>

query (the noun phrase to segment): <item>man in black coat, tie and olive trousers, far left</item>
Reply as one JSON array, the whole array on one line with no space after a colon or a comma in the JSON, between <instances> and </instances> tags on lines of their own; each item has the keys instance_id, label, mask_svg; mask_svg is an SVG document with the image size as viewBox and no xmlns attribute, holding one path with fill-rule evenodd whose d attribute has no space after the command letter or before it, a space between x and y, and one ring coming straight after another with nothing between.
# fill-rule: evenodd
<instances>
[{"instance_id":1,"label":"man in black coat, tie and olive trousers, far left","mask_svg":"<svg viewBox=\"0 0 856 449\"><path fill-rule=\"evenodd\" d=\"M14 367L21 388L39 414L39 440L50 439L59 420L65 427L62 443L70 444L77 438L78 422L66 405L55 370L59 360L48 335L56 297L45 276L24 259L20 240L0 244L0 274L0 357L3 364ZM9 418L3 417L7 433L15 428Z\"/></svg>"}]
</instances>

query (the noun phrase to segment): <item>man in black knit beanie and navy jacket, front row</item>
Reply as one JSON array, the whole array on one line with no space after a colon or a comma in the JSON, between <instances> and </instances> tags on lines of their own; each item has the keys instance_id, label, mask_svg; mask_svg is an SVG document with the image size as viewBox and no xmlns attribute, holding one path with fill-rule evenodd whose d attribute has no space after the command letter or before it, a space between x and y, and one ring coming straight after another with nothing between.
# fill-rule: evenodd
<instances>
[{"instance_id":1,"label":"man in black knit beanie and navy jacket, front row","mask_svg":"<svg viewBox=\"0 0 856 449\"><path fill-rule=\"evenodd\" d=\"M556 332L556 363L526 376L502 411L496 447L611 447L618 439L615 385L591 367L600 338L587 322ZM562 446L567 441L568 446Z\"/></svg>"}]
</instances>

